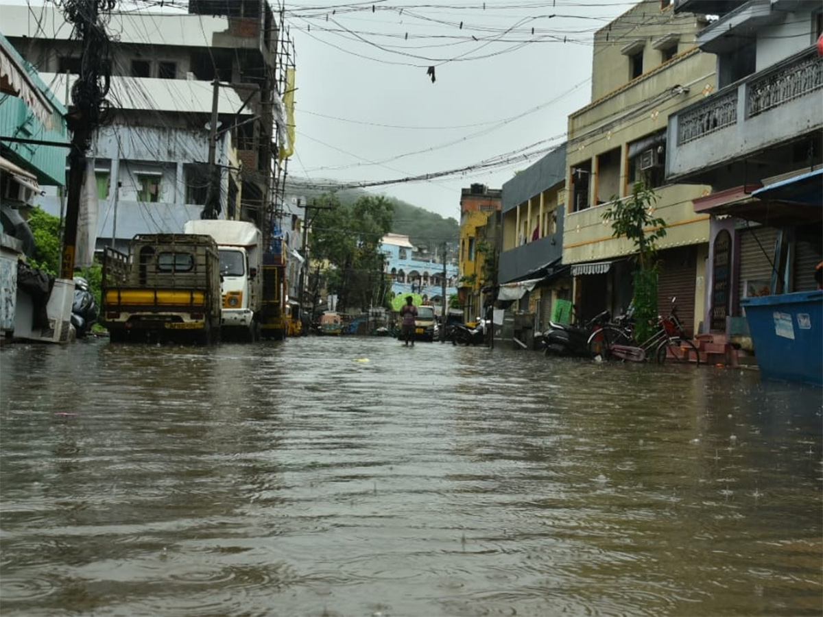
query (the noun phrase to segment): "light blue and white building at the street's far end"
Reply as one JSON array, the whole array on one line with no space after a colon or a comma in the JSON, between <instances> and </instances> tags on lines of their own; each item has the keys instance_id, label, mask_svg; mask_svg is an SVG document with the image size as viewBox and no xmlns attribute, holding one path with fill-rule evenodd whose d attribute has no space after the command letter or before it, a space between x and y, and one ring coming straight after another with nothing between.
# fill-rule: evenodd
<instances>
[{"instance_id":1,"label":"light blue and white building at the street's far end","mask_svg":"<svg viewBox=\"0 0 823 617\"><path fill-rule=\"evenodd\" d=\"M443 295L444 265L440 256L418 251L407 235L386 234L381 240L381 250L386 256L385 273L392 281L394 295L419 294L424 302L441 304ZM456 295L457 263L445 264L446 299Z\"/></svg>"}]
</instances>

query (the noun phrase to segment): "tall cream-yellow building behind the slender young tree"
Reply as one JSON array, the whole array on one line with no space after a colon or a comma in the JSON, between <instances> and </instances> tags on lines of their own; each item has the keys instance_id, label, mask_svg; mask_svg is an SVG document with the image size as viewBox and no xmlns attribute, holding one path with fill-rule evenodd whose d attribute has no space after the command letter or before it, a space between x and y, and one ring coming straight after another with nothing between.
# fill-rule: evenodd
<instances>
[{"instance_id":1,"label":"tall cream-yellow building behind the slender young tree","mask_svg":"<svg viewBox=\"0 0 823 617\"><path fill-rule=\"evenodd\" d=\"M603 214L639 181L654 189L654 216L667 224L658 304L677 296L687 332L703 319L709 216L695 214L692 200L710 187L672 183L665 169L667 118L716 88L714 56L695 45L705 23L671 0L643 0L594 35L592 102L569 117L566 159L563 262L579 319L630 304L635 246L613 237Z\"/></svg>"}]
</instances>

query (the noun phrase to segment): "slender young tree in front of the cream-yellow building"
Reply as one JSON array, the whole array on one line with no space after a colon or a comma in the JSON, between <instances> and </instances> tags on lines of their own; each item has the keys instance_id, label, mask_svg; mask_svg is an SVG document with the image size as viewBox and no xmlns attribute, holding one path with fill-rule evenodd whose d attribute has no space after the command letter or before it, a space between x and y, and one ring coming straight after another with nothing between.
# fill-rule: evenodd
<instances>
[{"instance_id":1,"label":"slender young tree in front of the cream-yellow building","mask_svg":"<svg viewBox=\"0 0 823 617\"><path fill-rule=\"evenodd\" d=\"M611 221L611 235L625 236L635 244L638 268L635 282L635 339L645 341L653 332L658 316L657 242L666 235L666 221L654 215L658 194L642 182L632 187L625 199L612 197L612 205L603 212L603 220Z\"/></svg>"}]
</instances>

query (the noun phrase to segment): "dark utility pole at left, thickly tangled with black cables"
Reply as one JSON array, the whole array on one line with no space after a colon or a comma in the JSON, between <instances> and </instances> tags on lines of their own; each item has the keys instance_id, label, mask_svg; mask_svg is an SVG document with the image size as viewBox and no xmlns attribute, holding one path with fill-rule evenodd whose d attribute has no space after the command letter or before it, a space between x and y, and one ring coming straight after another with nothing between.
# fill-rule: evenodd
<instances>
[{"instance_id":1,"label":"dark utility pole at left, thickly tangled with black cables","mask_svg":"<svg viewBox=\"0 0 823 617\"><path fill-rule=\"evenodd\" d=\"M109 90L110 69L106 53L109 39L100 23L100 6L111 11L114 5L114 0L67 0L63 5L66 21L74 24L74 31L82 40L83 48L80 77L72 86L72 107L66 116L68 128L72 131L72 150L68 155L66 226L60 264L60 276L64 279L74 276L77 219L86 177L86 153L100 123L102 104Z\"/></svg>"}]
</instances>

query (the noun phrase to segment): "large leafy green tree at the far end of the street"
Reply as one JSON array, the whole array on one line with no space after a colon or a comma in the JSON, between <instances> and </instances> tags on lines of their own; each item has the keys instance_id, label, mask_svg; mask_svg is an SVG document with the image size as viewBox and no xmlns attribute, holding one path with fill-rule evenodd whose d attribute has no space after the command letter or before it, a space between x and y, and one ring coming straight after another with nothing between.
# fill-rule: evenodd
<instances>
[{"instance_id":1,"label":"large leafy green tree at the far end of the street","mask_svg":"<svg viewBox=\"0 0 823 617\"><path fill-rule=\"evenodd\" d=\"M337 294L338 310L355 304L360 308L383 304L384 255L379 248L391 230L392 203L385 197L365 195L346 205L336 194L323 193L310 211L316 212L310 254L332 266L327 285Z\"/></svg>"}]
</instances>

